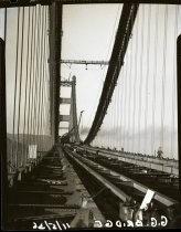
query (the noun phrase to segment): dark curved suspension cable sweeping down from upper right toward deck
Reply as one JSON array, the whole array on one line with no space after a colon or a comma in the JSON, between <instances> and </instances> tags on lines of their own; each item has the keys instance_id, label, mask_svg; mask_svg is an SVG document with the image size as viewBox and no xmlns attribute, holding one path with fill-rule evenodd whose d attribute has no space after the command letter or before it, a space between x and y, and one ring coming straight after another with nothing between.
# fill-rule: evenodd
<instances>
[{"instance_id":1,"label":"dark curved suspension cable sweeping down from upper right toward deck","mask_svg":"<svg viewBox=\"0 0 181 232\"><path fill-rule=\"evenodd\" d=\"M110 103L120 68L124 64L124 57L129 43L130 34L134 28L134 22L137 15L139 4L124 4L119 25L115 39L114 49L111 52L108 71L106 74L105 84L103 87L102 96L97 107L97 112L85 139L85 144L89 144L103 123L108 105Z\"/></svg>"}]
</instances>

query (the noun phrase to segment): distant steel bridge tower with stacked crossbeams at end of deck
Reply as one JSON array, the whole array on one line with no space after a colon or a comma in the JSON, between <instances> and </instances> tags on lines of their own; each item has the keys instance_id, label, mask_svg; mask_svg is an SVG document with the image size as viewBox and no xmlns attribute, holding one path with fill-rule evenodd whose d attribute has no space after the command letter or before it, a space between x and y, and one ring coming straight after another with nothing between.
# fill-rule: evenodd
<instances>
[{"instance_id":1,"label":"distant steel bridge tower with stacked crossbeams at end of deck","mask_svg":"<svg viewBox=\"0 0 181 232\"><path fill-rule=\"evenodd\" d=\"M62 81L61 86L72 88L71 98L61 97L61 104L70 104L70 115L60 115L61 122L68 122L68 127L60 127L60 129L68 129L68 133L64 136L70 137L71 143L79 143L78 125L77 125L77 112L76 112L76 77L73 76L72 81Z\"/></svg>"}]
</instances>

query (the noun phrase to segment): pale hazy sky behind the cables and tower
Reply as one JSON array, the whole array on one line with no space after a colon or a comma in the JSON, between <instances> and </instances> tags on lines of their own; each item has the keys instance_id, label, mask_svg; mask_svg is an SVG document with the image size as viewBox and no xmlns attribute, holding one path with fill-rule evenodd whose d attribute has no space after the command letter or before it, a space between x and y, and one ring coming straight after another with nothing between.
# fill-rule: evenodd
<instances>
[{"instance_id":1,"label":"pale hazy sky behind the cables and tower","mask_svg":"<svg viewBox=\"0 0 181 232\"><path fill-rule=\"evenodd\" d=\"M62 59L108 61L121 8L123 4L64 6ZM0 10L0 34L3 34L2 15ZM178 158L175 40L181 33L180 19L180 6L140 6L111 104L93 145L149 155L161 146L166 157ZM17 10L8 10L9 133L12 131L15 20ZM85 110L81 123L83 139L94 119L106 72L107 66L88 65L86 70L85 65L62 64L62 78L73 75L77 78L77 116ZM62 88L61 95L68 97L71 92ZM68 114L68 107L61 106L60 110ZM46 115L47 123L49 108Z\"/></svg>"}]
</instances>

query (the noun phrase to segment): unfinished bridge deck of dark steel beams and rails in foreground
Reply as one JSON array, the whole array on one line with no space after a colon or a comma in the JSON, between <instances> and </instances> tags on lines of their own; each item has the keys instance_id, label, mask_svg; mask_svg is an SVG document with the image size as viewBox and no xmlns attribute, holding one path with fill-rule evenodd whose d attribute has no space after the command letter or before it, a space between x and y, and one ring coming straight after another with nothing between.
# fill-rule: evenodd
<instances>
[{"instance_id":1,"label":"unfinished bridge deck of dark steel beams and rails in foreground","mask_svg":"<svg viewBox=\"0 0 181 232\"><path fill-rule=\"evenodd\" d=\"M9 177L9 229L118 228L118 221L119 228L129 226L120 223L135 220L148 188L156 193L149 217L143 213L142 226L152 228L150 215L157 228L163 226L161 215L167 225L177 226L177 179L167 172L143 170L85 148L54 147L39 162L32 161L18 176Z\"/></svg>"}]
</instances>

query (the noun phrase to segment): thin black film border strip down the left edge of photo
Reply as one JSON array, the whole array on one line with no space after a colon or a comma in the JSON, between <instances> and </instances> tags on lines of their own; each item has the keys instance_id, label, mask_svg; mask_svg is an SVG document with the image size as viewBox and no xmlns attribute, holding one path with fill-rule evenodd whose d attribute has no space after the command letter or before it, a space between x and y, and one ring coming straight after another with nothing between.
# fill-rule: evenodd
<instances>
[{"instance_id":1,"label":"thin black film border strip down the left edge of photo","mask_svg":"<svg viewBox=\"0 0 181 232\"><path fill-rule=\"evenodd\" d=\"M1 188L2 188L2 229L7 228L7 194L8 194L8 170L7 170L7 102L6 102L6 54L4 41L0 38L0 150L1 150Z\"/></svg>"}]
</instances>

